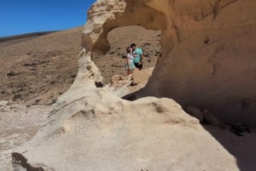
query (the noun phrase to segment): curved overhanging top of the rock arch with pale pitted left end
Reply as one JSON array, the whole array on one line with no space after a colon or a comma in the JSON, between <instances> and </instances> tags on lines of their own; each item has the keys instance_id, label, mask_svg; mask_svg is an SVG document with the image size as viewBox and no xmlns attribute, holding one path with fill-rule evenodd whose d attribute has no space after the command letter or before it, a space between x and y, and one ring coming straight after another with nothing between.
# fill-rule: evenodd
<instances>
[{"instance_id":1,"label":"curved overhanging top of the rock arch with pale pitted left end","mask_svg":"<svg viewBox=\"0 0 256 171\"><path fill-rule=\"evenodd\" d=\"M97 1L88 11L88 20L82 34L86 50L106 53L109 49L108 32L118 26L143 25L151 30L164 26L164 14L145 6L143 1Z\"/></svg>"}]
</instances>

